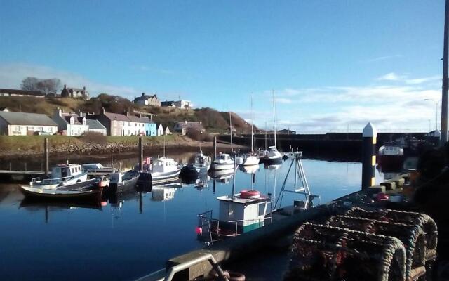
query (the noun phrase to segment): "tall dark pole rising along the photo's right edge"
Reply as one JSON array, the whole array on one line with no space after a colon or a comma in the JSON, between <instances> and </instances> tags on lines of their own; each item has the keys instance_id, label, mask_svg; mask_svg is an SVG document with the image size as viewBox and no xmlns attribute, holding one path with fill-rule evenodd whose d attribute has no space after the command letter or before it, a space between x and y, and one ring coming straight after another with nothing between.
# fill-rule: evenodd
<instances>
[{"instance_id":1,"label":"tall dark pole rising along the photo's right edge","mask_svg":"<svg viewBox=\"0 0 449 281\"><path fill-rule=\"evenodd\" d=\"M441 93L441 142L444 146L448 141L448 49L449 49L449 0L446 0L444 15L444 53L443 53L443 91Z\"/></svg>"}]
</instances>

